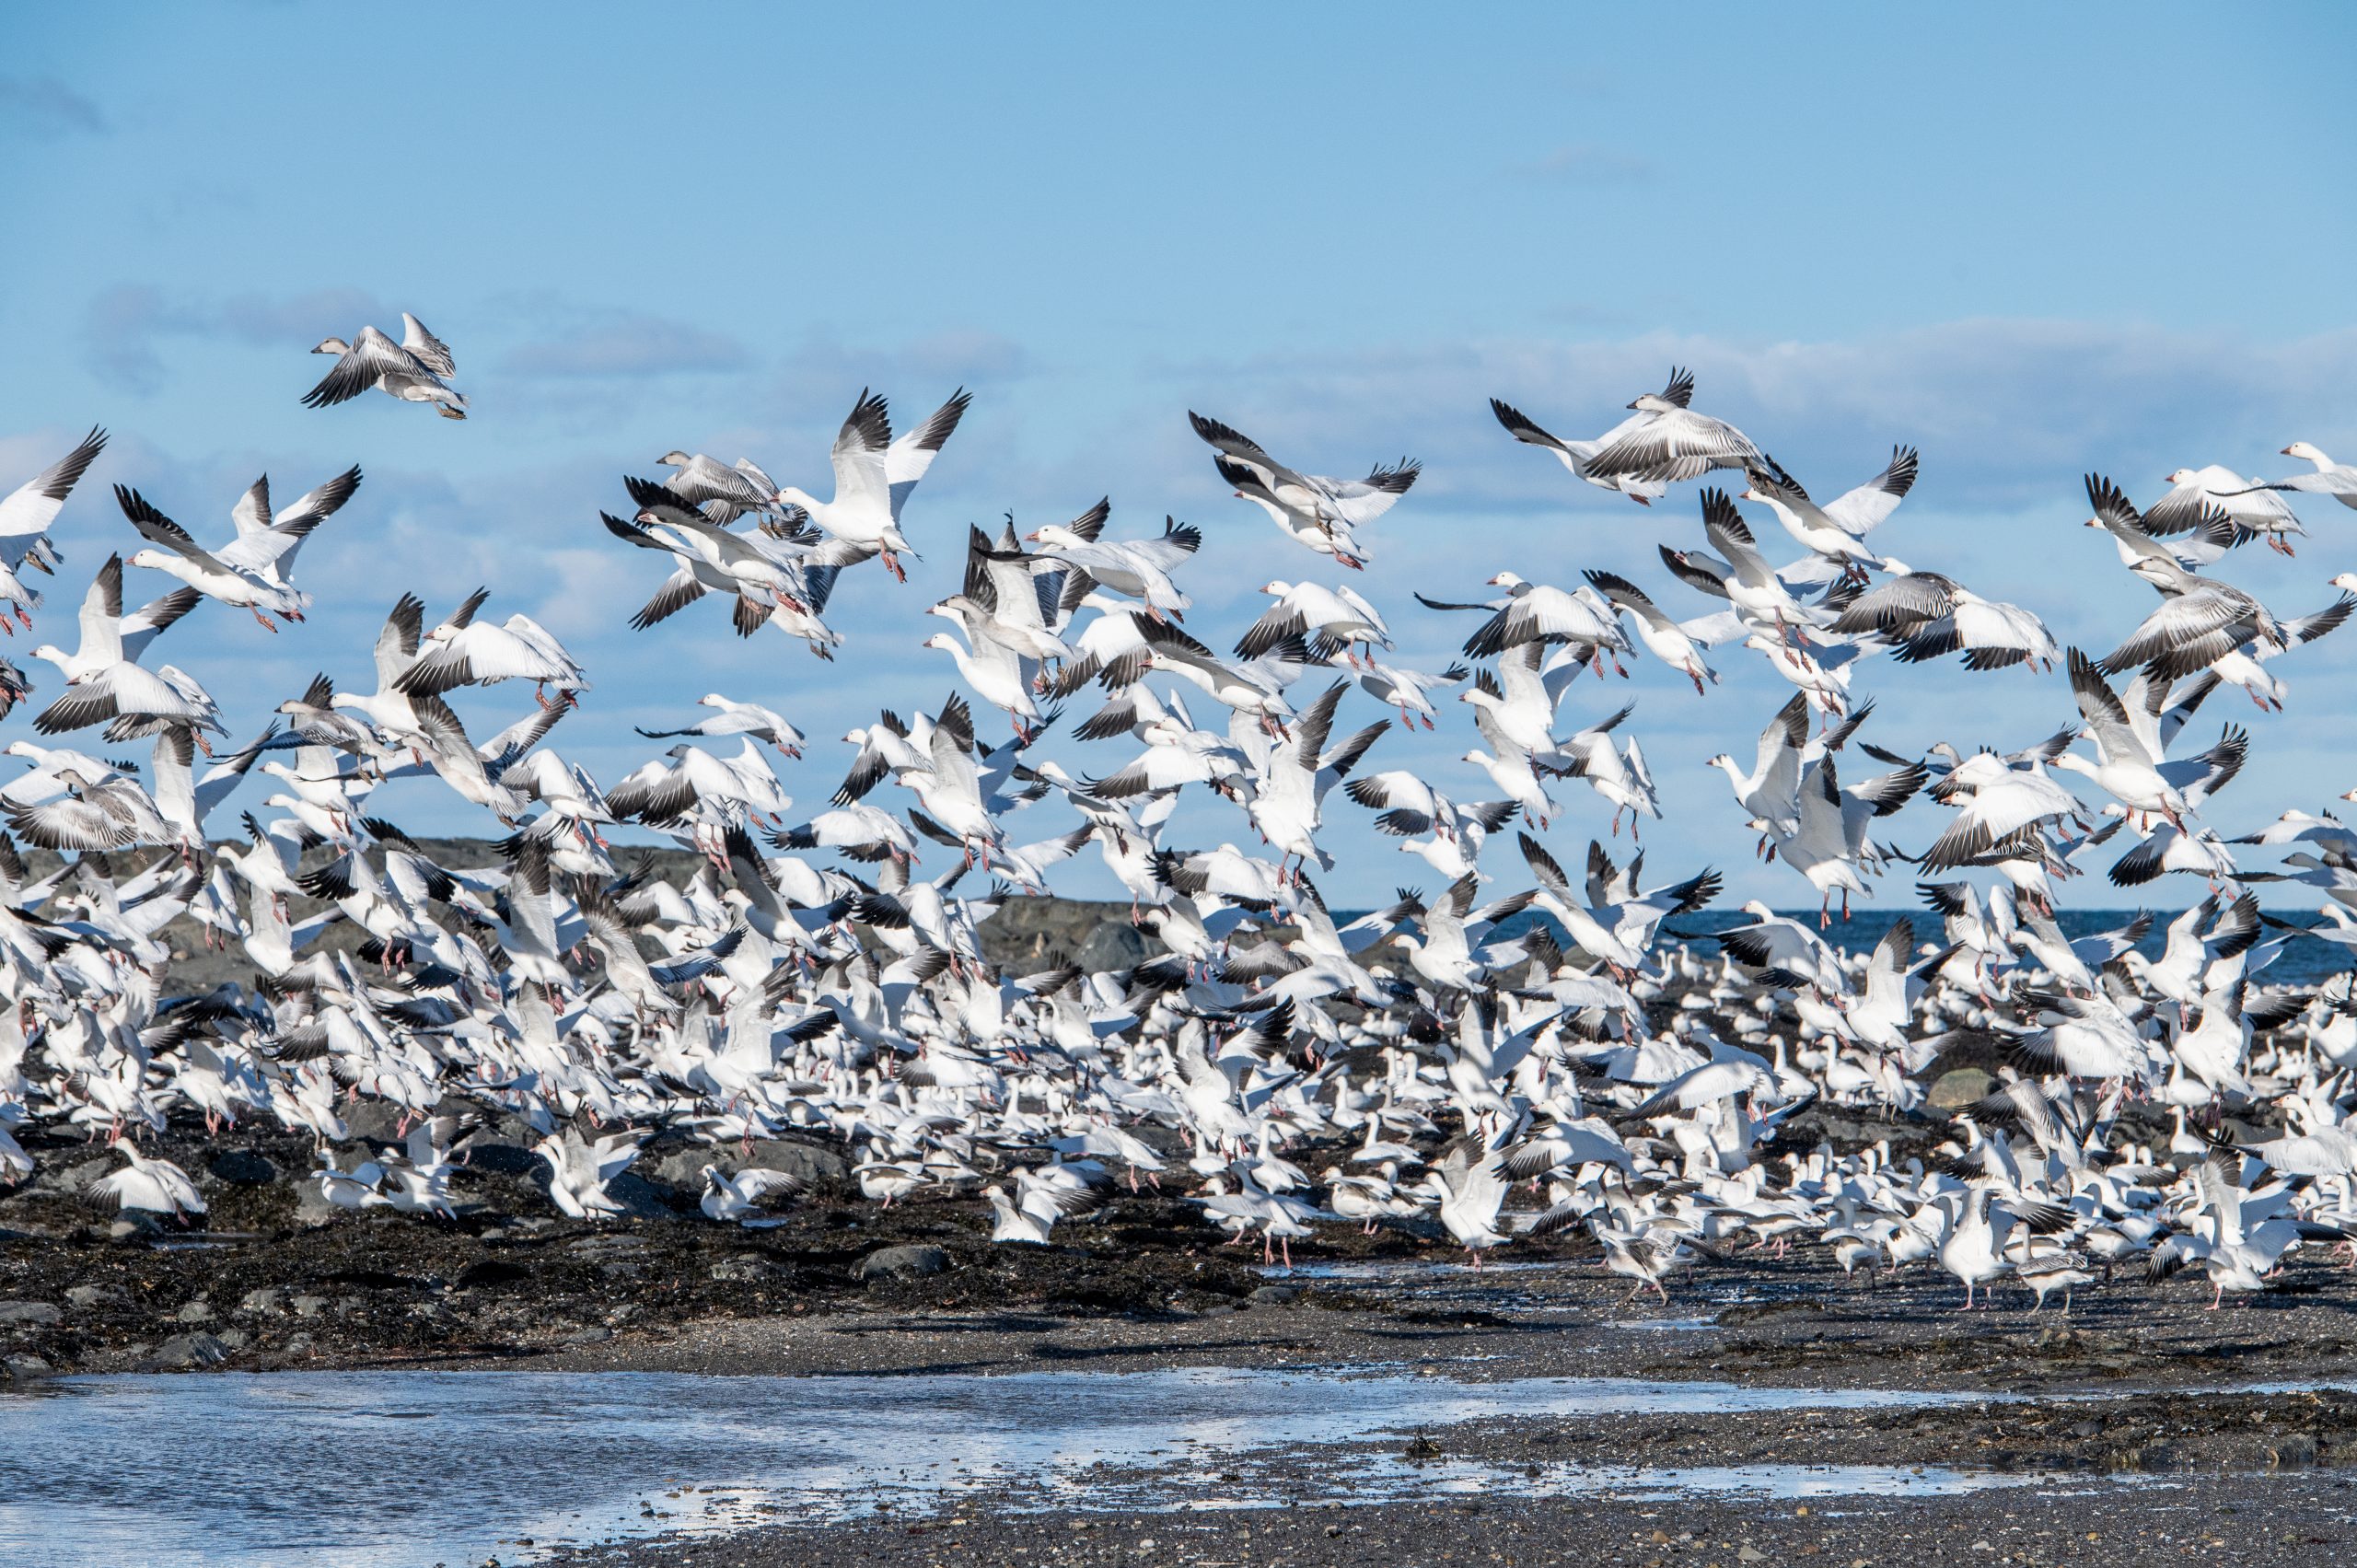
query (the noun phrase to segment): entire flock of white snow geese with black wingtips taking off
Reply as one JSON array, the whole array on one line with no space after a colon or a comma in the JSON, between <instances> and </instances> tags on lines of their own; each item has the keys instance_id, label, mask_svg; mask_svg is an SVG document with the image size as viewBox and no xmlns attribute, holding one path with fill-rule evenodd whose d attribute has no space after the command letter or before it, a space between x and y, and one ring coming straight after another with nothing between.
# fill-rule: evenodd
<instances>
[{"instance_id":1,"label":"entire flock of white snow geese with black wingtips taking off","mask_svg":"<svg viewBox=\"0 0 2357 1568\"><path fill-rule=\"evenodd\" d=\"M467 417L450 349L415 316L401 342L363 328L318 351L337 361L309 406L384 391ZM2293 443L2315 472L2178 469L2143 509L2091 476L2088 526L2157 604L2084 651L1890 554L1914 448L1817 502L1692 401L1673 373L1584 441L1492 403L1574 479L1655 507L1664 573L1499 573L1487 597L1424 599L1464 615L1447 670L1395 663L1386 613L1346 575L1419 465L1310 474L1188 415L1223 483L1325 578L1270 580L1230 651L1186 620L1195 526L1117 528L1105 502L1021 538L969 526L962 582L929 608L948 622L926 639L955 670L945 700L879 712L830 755L783 712L787 689L709 693L641 731L667 750L610 785L561 750L582 665L488 592L445 613L401 594L372 667L328 660L337 674L269 714L224 707L172 663L198 663L193 627L222 608L304 620L297 556L354 502L358 467L283 507L259 479L203 540L118 483L139 545L123 554L120 526L82 507L75 549L104 559L75 634L31 648L54 674L0 660L0 717L33 714L7 745L24 771L0 788L0 1174L33 1170L12 1129L73 1129L125 1162L94 1200L191 1217L198 1186L153 1153L167 1122L276 1122L313 1139L309 1179L330 1203L448 1217L478 1122L448 1108L474 1103L537 1132L547 1195L580 1219L618 1212L608 1188L658 1129L709 1148L714 1221L794 1203L792 1177L742 1160L794 1129L849 1144L874 1203L978 1195L1004 1243L1084 1240L1080 1221L1146 1179L1287 1264L1320 1226L1447 1238L1475 1264L1579 1228L1631 1294L1666 1297L1671 1273L1730 1247L1815 1245L1846 1271L1937 1264L1966 1306L1999 1280L2067 1304L2131 1259L2197 1271L2216 1304L2263 1290L2303 1243L2345 1245L2357 1000L2348 974L2267 981L2291 927L2251 887L2312 889L2319 934L2357 946L2357 830L2298 809L2232 839L2206 825L2251 738L2223 724L2206 740L2199 710L2223 686L2279 710L2275 660L2357 606L2348 575L2300 615L2216 575L2253 540L2291 554L2298 498L2357 507L2357 469ZM907 505L964 413L957 394L896 434L863 394L825 500L686 450L627 479L603 526L658 556L632 625L717 599L738 637L775 622L834 658L841 573L874 559L905 580L912 540L955 538ZM57 637L33 580L64 571L57 526L104 446L92 431L0 502L12 634ZM1699 531L1669 516L1695 481ZM141 601L139 573L170 585ZM1671 691L1711 698L1714 660L1751 655L1789 700L1714 766L1730 821L1817 913L1747 903L1692 938L1678 922L1721 877L1652 877L1643 851L1603 846L1662 806L1633 705L1600 693L1652 658ZM1876 658L1952 655L2060 670L2079 719L1921 755L1860 736ZM497 717L462 719L462 693ZM1068 712L1098 747L1087 769L1042 747ZM1478 740L1473 790L1381 766L1393 717L1438 729L1450 712ZM231 722L255 738L233 743ZM818 776L820 809L794 809L787 762ZM429 776L481 809L497 868L438 865L370 809L384 783ZM1186 790L1235 811L1235 842L1169 842ZM1544 835L1584 792L1612 832L1570 856L1574 872ZM1919 797L1937 830L1902 854L1888 818ZM1028 830L1032 811L1051 825ZM1320 830L1343 813L1426 861L1438 896L1332 913ZM693 849L700 870L629 865L608 839L620 825ZM35 875L19 842L64 861ZM2161 917L2159 955L2143 941L2154 917L2060 924L2060 887L2102 844L2124 851L2114 887L2201 887ZM1037 974L988 962L990 915L1084 854L1162 953ZM2244 870L2253 856L2279 863ZM1921 924L1895 920L1864 955L1831 946L1834 898L1848 910L1902 865ZM316 908L302 920L299 896ZM174 988L174 920L243 948L252 983ZM1805 1106L1921 1113L1959 1061L1996 1070L1930 1155L1787 1132ZM358 1099L398 1108L398 1144L354 1151Z\"/></svg>"}]
</instances>

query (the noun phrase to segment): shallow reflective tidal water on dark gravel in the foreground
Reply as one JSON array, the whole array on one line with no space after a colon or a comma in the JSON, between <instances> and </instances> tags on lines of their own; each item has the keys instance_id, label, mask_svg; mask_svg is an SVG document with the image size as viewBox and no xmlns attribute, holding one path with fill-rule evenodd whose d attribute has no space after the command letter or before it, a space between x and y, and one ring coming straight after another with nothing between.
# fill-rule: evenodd
<instances>
[{"instance_id":1,"label":"shallow reflective tidal water on dark gravel in the foreground","mask_svg":"<svg viewBox=\"0 0 2357 1568\"><path fill-rule=\"evenodd\" d=\"M1336 1450L1327 1481L1237 1457L1485 1417L1961 1403L1888 1389L1405 1372L273 1372L80 1377L0 1396L0 1561L408 1568L764 1521L922 1516L983 1485L1056 1509L1412 1495L1933 1495L2065 1483L1904 1467L1494 1467Z\"/></svg>"}]
</instances>

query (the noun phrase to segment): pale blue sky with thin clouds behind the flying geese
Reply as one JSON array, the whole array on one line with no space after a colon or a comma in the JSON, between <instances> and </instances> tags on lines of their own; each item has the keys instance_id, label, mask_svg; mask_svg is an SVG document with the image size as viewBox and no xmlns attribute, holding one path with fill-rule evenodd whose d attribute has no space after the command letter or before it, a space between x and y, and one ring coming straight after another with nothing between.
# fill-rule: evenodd
<instances>
[{"instance_id":1,"label":"pale blue sky with thin clouds behind the flying geese","mask_svg":"<svg viewBox=\"0 0 2357 1568\"><path fill-rule=\"evenodd\" d=\"M1699 542L1692 486L1652 512L1574 486L1492 424L1492 394L1593 434L1683 361L1697 408L1820 493L1919 443L1888 549L2100 646L2150 592L2074 528L2084 469L2150 500L2178 465L2272 474L2293 439L2357 450L2345 7L1676 17L19 9L0 64L0 486L92 422L115 431L61 523L64 608L132 538L104 483L203 535L257 472L288 495L361 462L368 486L304 556L313 622L271 639L214 611L170 658L259 726L313 667L363 679L401 585L445 608L490 582L497 613L542 618L599 677L559 750L610 783L643 755L629 722L714 686L813 736L938 703L952 672L917 648L936 630L919 611L955 585L964 523L1009 509L1054 521L1110 493L1117 531L1204 526L1193 625L1230 641L1252 587L1320 566L1228 498L1186 408L1322 472L1426 460L1372 531L1367 578L1405 606L1402 658L1431 663L1466 627L1407 589L1473 597L1504 566L1615 566L1706 608L1652 556ZM299 408L325 365L304 349L401 309L457 351L474 420ZM719 611L622 627L660 575L596 526L625 472L684 446L823 493L860 387L907 420L959 382L973 415L910 509L929 566L905 589L844 585L837 667L775 634L738 644ZM2303 514L2298 561L2227 566L2286 613L2357 566L2357 519ZM2279 665L2289 717L2218 714L2253 724L2265 764L2218 802L2220 828L2357 783L2345 639ZM1801 884L1749 865L1699 766L1782 693L1721 665L1709 700L1657 667L1631 686L1676 842L1655 865L1718 861L1789 903ZM2027 674L1883 665L1869 686L1895 747L2018 745L2069 714L2060 679ZM497 691L467 712L511 707ZM1480 795L1450 762L1466 745L1395 731L1372 764ZM816 747L797 799L816 806L841 759ZM1577 854L1607 811L1563 799L1553 839ZM422 795L415 811L474 825ZM1353 813L1336 802L1336 849L1362 842ZM1061 818L1037 825L1023 837ZM1895 837L1935 828L1921 806ZM1249 830L1209 806L1178 837ZM1402 865L1421 870L1346 854L1329 894L1379 896Z\"/></svg>"}]
</instances>

